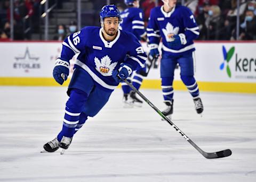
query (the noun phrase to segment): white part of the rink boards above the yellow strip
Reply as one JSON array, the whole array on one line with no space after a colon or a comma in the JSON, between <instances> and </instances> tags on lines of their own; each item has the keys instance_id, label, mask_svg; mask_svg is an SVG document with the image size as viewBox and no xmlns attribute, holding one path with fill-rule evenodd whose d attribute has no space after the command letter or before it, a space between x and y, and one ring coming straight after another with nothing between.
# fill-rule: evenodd
<instances>
[{"instance_id":1,"label":"white part of the rink boards above the yellow strip","mask_svg":"<svg viewBox=\"0 0 256 182\"><path fill-rule=\"evenodd\" d=\"M0 42L0 77L52 77L55 58L59 57L61 42ZM256 42L197 42L196 79L209 82L256 82ZM222 47L235 48L229 63L224 62ZM145 51L147 45L143 42ZM240 60L241 59L241 60ZM239 61L240 60L240 61ZM231 77L227 74L229 65ZM175 80L180 80L179 69ZM148 80L159 79L159 64L151 69Z\"/></svg>"}]
</instances>

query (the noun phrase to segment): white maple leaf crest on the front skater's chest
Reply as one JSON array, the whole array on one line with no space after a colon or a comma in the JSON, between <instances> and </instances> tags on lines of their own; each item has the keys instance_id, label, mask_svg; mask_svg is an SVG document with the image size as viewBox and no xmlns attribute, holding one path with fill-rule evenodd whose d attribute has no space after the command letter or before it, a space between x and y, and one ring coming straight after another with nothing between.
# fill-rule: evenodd
<instances>
[{"instance_id":1,"label":"white maple leaf crest on the front skater's chest","mask_svg":"<svg viewBox=\"0 0 256 182\"><path fill-rule=\"evenodd\" d=\"M96 65L96 70L103 76L111 76L114 68L117 65L117 62L111 63L110 57L104 56L99 60L97 57L94 57L94 63Z\"/></svg>"}]
</instances>

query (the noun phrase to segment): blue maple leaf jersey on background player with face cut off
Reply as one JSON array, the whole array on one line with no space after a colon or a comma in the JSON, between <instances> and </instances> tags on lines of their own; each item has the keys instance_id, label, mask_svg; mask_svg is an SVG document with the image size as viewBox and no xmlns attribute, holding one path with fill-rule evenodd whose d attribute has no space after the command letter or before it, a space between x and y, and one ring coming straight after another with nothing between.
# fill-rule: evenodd
<instances>
[{"instance_id":1,"label":"blue maple leaf jersey on background player with face cut off","mask_svg":"<svg viewBox=\"0 0 256 182\"><path fill-rule=\"evenodd\" d=\"M170 48L167 41L171 41L171 34L183 33L186 36L187 43L175 48ZM194 51L193 40L199 36L199 28L196 24L194 15L186 6L175 6L171 12L166 13L163 6L155 7L150 12L150 18L147 27L147 37L149 44L159 44L162 37L163 54L180 55Z\"/></svg>"}]
</instances>

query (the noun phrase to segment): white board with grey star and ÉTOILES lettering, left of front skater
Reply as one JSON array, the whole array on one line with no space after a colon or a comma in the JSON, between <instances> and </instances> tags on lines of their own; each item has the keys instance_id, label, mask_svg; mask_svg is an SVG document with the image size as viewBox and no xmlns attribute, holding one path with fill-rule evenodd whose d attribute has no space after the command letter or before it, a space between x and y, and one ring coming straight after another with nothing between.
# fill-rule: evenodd
<instances>
[{"instance_id":1,"label":"white board with grey star and \u00c9TOILES lettering, left of front skater","mask_svg":"<svg viewBox=\"0 0 256 182\"><path fill-rule=\"evenodd\" d=\"M0 77L51 77L61 42L0 42Z\"/></svg>"}]
</instances>

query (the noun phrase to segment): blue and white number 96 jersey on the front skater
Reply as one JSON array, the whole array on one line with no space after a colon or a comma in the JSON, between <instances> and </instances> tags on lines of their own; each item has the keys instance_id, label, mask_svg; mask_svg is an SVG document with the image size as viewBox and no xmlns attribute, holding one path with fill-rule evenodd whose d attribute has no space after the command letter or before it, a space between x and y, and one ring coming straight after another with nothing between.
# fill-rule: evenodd
<instances>
[{"instance_id":1,"label":"blue and white number 96 jersey on the front skater","mask_svg":"<svg viewBox=\"0 0 256 182\"><path fill-rule=\"evenodd\" d=\"M62 43L61 59L70 60L79 53L74 68L82 67L95 84L114 90L118 83L111 76L112 72L124 62L130 64L132 70L138 70L147 55L132 33L118 30L117 37L108 42L101 30L100 27L85 27L68 36Z\"/></svg>"}]
</instances>

